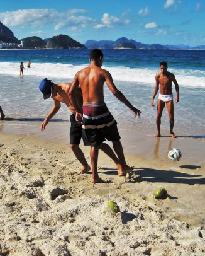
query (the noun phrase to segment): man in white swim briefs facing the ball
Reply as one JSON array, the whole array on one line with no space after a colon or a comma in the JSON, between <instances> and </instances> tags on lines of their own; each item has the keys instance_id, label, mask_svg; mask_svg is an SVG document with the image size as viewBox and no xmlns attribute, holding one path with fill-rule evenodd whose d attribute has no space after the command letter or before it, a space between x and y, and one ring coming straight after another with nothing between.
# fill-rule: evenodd
<instances>
[{"instance_id":1,"label":"man in white swim briefs facing the ball","mask_svg":"<svg viewBox=\"0 0 205 256\"><path fill-rule=\"evenodd\" d=\"M175 138L175 134L173 132L174 127L174 103L173 103L173 94L172 94L172 82L175 84L176 96L175 102L179 102L179 85L177 80L175 79L174 74L167 71L167 62L160 62L160 71L161 73L156 74L155 80L155 90L153 92L153 97L151 101L151 105L154 106L154 98L157 95L158 89L160 89L160 93L158 96L157 103L157 134L155 137L160 137L160 125L161 125L161 117L162 111L165 105L167 106L167 111L169 115L170 122L170 134L173 138Z\"/></svg>"}]
</instances>

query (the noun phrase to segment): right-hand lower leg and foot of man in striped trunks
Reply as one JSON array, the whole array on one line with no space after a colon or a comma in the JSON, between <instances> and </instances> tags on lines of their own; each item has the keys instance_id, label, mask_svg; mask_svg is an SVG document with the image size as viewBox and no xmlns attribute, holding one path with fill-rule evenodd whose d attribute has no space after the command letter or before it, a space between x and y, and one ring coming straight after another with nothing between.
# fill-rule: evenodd
<instances>
[{"instance_id":1,"label":"right-hand lower leg and foot of man in striped trunks","mask_svg":"<svg viewBox=\"0 0 205 256\"><path fill-rule=\"evenodd\" d=\"M118 175L123 176L126 173L133 171L133 168L126 164L121 141L113 141L113 148L119 158L119 163L121 164L121 168L118 169Z\"/></svg>"}]
</instances>

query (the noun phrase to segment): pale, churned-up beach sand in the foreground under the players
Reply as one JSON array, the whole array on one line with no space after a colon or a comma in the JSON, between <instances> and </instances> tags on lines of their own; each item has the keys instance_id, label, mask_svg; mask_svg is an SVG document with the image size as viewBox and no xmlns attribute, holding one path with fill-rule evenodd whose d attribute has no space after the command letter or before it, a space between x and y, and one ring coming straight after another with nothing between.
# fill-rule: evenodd
<instances>
[{"instance_id":1,"label":"pale, churned-up beach sand in the foreground under the players","mask_svg":"<svg viewBox=\"0 0 205 256\"><path fill-rule=\"evenodd\" d=\"M147 141L153 156L143 154ZM204 255L204 165L172 163L161 156L163 142L147 141L141 154L126 154L136 180L118 177L100 153L106 183L92 184L67 144L1 132L0 255ZM155 199L157 187L169 197ZM120 212L104 214L107 201Z\"/></svg>"}]
</instances>

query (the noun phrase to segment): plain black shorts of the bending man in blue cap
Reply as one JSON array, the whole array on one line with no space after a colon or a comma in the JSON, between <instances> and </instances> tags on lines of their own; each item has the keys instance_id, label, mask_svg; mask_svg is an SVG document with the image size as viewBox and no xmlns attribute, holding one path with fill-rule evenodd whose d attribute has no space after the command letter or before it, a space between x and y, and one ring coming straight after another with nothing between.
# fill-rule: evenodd
<instances>
[{"instance_id":1,"label":"plain black shorts of the bending man in blue cap","mask_svg":"<svg viewBox=\"0 0 205 256\"><path fill-rule=\"evenodd\" d=\"M80 144L82 138L82 125L77 123L75 115L70 115L70 144Z\"/></svg>"}]
</instances>

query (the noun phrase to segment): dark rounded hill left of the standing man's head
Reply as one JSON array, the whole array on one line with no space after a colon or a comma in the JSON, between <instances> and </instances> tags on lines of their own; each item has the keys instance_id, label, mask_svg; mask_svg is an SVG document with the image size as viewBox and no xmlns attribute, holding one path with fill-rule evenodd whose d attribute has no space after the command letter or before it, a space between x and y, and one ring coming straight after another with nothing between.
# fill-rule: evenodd
<instances>
[{"instance_id":1,"label":"dark rounded hill left of the standing man's head","mask_svg":"<svg viewBox=\"0 0 205 256\"><path fill-rule=\"evenodd\" d=\"M83 44L75 41L68 35L57 35L50 38L46 44L46 48L70 49L70 48L86 48Z\"/></svg>"}]
</instances>

